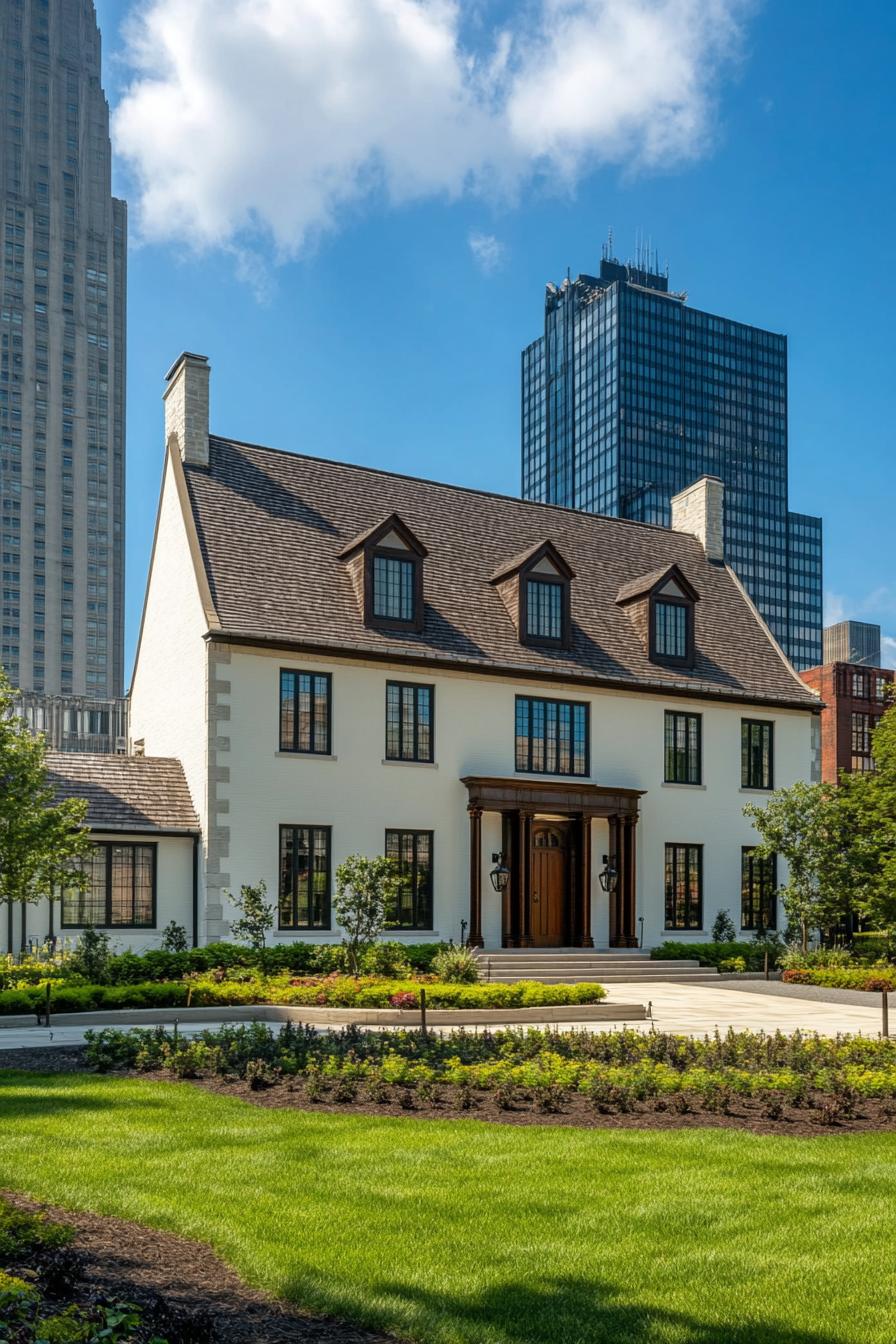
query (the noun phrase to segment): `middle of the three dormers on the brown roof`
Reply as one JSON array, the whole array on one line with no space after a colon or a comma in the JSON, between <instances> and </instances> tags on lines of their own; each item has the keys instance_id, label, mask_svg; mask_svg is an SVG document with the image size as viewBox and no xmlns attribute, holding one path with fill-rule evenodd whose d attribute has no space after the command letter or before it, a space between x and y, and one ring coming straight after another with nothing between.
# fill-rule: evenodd
<instances>
[{"instance_id":1,"label":"middle of the three dormers on the brown roof","mask_svg":"<svg viewBox=\"0 0 896 1344\"><path fill-rule=\"evenodd\" d=\"M572 642L572 570L551 542L539 542L493 575L520 644L567 649Z\"/></svg>"}]
</instances>

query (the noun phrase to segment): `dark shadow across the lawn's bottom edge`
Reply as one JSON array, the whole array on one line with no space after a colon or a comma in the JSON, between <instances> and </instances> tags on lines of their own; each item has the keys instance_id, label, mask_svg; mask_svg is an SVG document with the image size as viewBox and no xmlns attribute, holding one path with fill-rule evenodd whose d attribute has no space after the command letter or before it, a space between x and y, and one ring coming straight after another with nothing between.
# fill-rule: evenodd
<instances>
[{"instance_id":1,"label":"dark shadow across the lawn's bottom edge","mask_svg":"<svg viewBox=\"0 0 896 1344\"><path fill-rule=\"evenodd\" d=\"M377 1284L375 1292L406 1302L407 1325L423 1339L423 1322L431 1317L442 1331L453 1322L458 1340L508 1344L657 1344L668 1339L681 1344L842 1344L842 1336L791 1329L776 1321L720 1325L686 1312L625 1301L617 1289L594 1279L501 1284L466 1300L404 1284ZM301 1301L301 1289L296 1300Z\"/></svg>"}]
</instances>

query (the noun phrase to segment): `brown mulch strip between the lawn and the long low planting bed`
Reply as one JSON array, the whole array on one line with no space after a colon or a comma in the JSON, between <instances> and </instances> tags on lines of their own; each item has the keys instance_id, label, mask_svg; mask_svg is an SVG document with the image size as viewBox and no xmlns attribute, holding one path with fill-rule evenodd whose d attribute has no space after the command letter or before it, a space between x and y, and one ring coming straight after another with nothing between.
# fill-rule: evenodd
<instances>
[{"instance_id":1,"label":"brown mulch strip between the lawn and the long low planting bed","mask_svg":"<svg viewBox=\"0 0 896 1344\"><path fill-rule=\"evenodd\" d=\"M82 1046L64 1046L47 1050L0 1050L0 1068L27 1068L30 1073L82 1073L86 1071ZM150 1082L172 1082L168 1073L132 1074ZM524 1097L510 1109L498 1106L490 1093L473 1093L469 1109L461 1109L454 1087L442 1086L441 1099L429 1105L412 1093L404 1095L404 1089L391 1090L388 1101L373 1102L359 1097L351 1102L332 1099L309 1101L302 1079L283 1079L273 1086L254 1091L242 1079L195 1078L188 1086L204 1087L223 1097L238 1097L255 1106L289 1107L294 1110L322 1111L330 1116L392 1116L402 1120L486 1120L498 1125L575 1125L580 1129L746 1129L754 1134L785 1134L791 1138L819 1138L845 1133L880 1133L896 1130L896 1106L860 1098L856 1113L850 1118L840 1117L833 1124L822 1120L814 1106L783 1106L780 1118L771 1120L764 1114L764 1106L750 1098L735 1098L728 1114L720 1114L700 1106L692 1099L692 1110L682 1114L673 1099L666 1099L665 1109L654 1102L641 1102L630 1111L610 1111L604 1114L594 1107L586 1097L570 1095L559 1111L541 1111ZM402 1105L410 1101L410 1105Z\"/></svg>"}]
</instances>

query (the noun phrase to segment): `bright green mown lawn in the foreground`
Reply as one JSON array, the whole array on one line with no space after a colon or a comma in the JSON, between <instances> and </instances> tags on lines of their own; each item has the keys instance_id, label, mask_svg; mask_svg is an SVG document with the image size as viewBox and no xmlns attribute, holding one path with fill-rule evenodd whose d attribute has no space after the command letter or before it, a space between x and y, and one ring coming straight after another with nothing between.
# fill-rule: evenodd
<instances>
[{"instance_id":1,"label":"bright green mown lawn in the foreground","mask_svg":"<svg viewBox=\"0 0 896 1344\"><path fill-rule=\"evenodd\" d=\"M0 1185L426 1344L892 1344L896 1136L265 1110L0 1074Z\"/></svg>"}]
</instances>

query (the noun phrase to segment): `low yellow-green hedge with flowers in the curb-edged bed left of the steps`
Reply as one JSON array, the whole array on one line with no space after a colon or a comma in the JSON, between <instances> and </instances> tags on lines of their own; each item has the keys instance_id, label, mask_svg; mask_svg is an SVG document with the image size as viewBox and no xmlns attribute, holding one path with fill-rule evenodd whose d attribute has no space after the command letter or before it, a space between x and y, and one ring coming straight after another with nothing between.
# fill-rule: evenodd
<instances>
[{"instance_id":1,"label":"low yellow-green hedge with flowers in the curb-edged bed left of the steps","mask_svg":"<svg viewBox=\"0 0 896 1344\"><path fill-rule=\"evenodd\" d=\"M606 996L602 985L543 985L520 980L512 985L426 985L431 1008L539 1008L544 1005L594 1004ZM250 1004L287 1004L293 1007L388 1008L419 1007L420 985L412 980L351 980L333 977L326 981L290 984L148 981L137 985L66 985L51 986L51 1012L95 1012L120 1008L208 1008ZM394 1000L398 1000L395 1004ZM0 1016L32 1013L43 1008L46 986L7 989L0 993Z\"/></svg>"}]
</instances>

